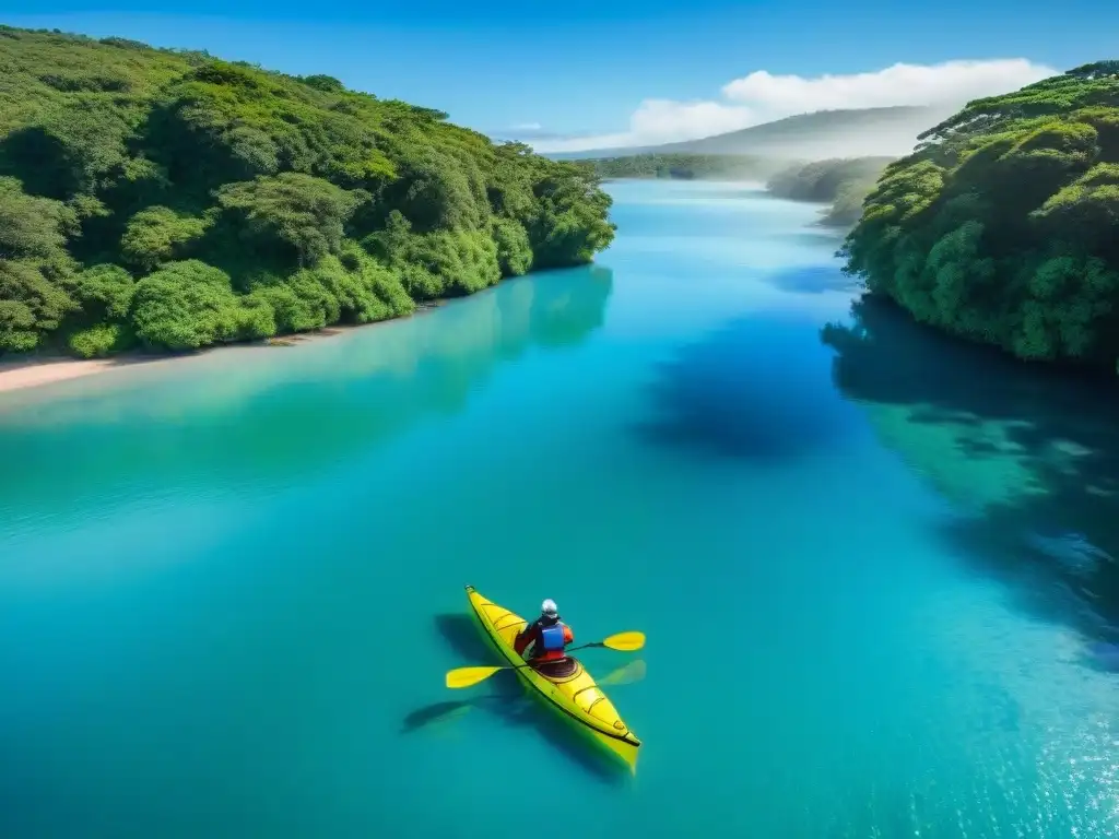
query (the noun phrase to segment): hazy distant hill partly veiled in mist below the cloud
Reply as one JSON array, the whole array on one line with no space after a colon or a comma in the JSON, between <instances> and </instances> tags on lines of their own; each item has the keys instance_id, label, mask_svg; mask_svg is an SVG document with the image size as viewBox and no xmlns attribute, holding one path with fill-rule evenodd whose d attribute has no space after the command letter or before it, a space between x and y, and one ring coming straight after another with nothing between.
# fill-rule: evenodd
<instances>
[{"instance_id":1,"label":"hazy distant hill partly veiled in mist below the cloud","mask_svg":"<svg viewBox=\"0 0 1119 839\"><path fill-rule=\"evenodd\" d=\"M630 154L750 154L789 160L866 155L901 157L916 136L956 112L955 107L897 106L817 111L787 116L727 134L662 145L591 149L547 154L557 160Z\"/></svg>"}]
</instances>

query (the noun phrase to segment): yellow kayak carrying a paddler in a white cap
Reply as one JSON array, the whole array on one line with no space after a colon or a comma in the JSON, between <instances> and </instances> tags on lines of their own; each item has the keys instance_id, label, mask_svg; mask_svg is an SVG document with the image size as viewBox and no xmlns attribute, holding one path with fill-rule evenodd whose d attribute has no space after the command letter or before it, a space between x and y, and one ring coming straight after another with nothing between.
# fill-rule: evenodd
<instances>
[{"instance_id":1,"label":"yellow kayak carrying a paddler in a white cap","mask_svg":"<svg viewBox=\"0 0 1119 839\"><path fill-rule=\"evenodd\" d=\"M524 664L524 659L513 647L514 639L528 623L508 609L486 600L467 586L470 609L481 624L482 632L510 664ZM519 667L517 675L548 705L592 739L620 757L630 772L637 773L637 753L641 741L622 722L617 709L602 689L594 684L583 662L568 656L562 662L548 662L539 668Z\"/></svg>"}]
</instances>

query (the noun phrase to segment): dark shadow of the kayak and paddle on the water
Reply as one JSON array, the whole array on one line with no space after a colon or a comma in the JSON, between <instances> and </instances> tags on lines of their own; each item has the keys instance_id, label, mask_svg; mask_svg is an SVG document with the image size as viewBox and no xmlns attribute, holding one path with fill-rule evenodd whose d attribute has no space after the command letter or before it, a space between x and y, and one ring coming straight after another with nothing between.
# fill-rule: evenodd
<instances>
[{"instance_id":1,"label":"dark shadow of the kayak and paddle on the water","mask_svg":"<svg viewBox=\"0 0 1119 839\"><path fill-rule=\"evenodd\" d=\"M501 663L501 659L482 638L469 615L438 614L434 623L436 632L457 656L462 657L463 667L472 663ZM435 701L408 711L401 723L401 733L413 734L433 725L453 722L467 713L481 710L505 725L524 726L537 732L558 754L603 783L621 785L627 781L624 772L608 756L595 750L593 744L582 742L564 720L530 696L515 673L496 673L481 685L466 690L472 695ZM479 695L478 691L485 692Z\"/></svg>"}]
</instances>

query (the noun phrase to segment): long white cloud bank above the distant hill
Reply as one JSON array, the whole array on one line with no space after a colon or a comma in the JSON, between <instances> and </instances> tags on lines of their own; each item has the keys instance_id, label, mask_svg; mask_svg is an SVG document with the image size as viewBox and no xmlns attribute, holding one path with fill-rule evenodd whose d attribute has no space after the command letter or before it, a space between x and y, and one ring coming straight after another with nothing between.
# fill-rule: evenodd
<instances>
[{"instance_id":1,"label":"long white cloud bank above the distant hill","mask_svg":"<svg viewBox=\"0 0 1119 839\"><path fill-rule=\"evenodd\" d=\"M887 105L960 106L969 100L1016 91L1059 70L1025 58L895 64L849 75L774 76L756 70L723 85L722 100L645 100L615 134L548 138L537 151L582 151L653 145L737 131L793 114Z\"/></svg>"}]
</instances>

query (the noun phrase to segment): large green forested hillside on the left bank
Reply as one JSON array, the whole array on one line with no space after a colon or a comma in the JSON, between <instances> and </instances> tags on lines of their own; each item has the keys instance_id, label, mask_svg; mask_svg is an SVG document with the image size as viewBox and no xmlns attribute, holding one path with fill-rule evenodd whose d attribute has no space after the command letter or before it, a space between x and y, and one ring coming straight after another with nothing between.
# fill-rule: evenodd
<instances>
[{"instance_id":1,"label":"large green forested hillside on the left bank","mask_svg":"<svg viewBox=\"0 0 1119 839\"><path fill-rule=\"evenodd\" d=\"M206 53L0 27L0 353L366 323L614 236L593 168Z\"/></svg>"}]
</instances>

